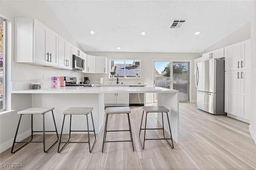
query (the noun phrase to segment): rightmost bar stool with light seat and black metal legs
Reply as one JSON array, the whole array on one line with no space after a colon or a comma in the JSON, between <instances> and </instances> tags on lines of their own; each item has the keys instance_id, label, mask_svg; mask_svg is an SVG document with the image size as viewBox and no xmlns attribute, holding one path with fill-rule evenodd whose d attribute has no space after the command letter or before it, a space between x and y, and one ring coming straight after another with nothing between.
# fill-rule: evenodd
<instances>
[{"instance_id":1,"label":"rightmost bar stool with light seat and black metal legs","mask_svg":"<svg viewBox=\"0 0 256 170\"><path fill-rule=\"evenodd\" d=\"M142 107L143 109L143 113L142 113L142 119L141 119L141 124L140 124L140 131L141 130L145 130L144 131L144 141L143 141L143 146L142 146L142 143L141 143L141 140L140 140L140 144L142 146L142 149L144 149L144 146L145 146L145 140L162 140L162 139L165 139L167 142L168 140L167 139L171 139L172 140L172 132L171 132L171 127L170 127L170 122L169 122L169 117L168 117L168 112L169 112L169 109L167 109L166 107L164 106L143 106ZM146 112L146 120L145 120L145 128L141 128L142 126L142 120L143 120L143 115L144 115L144 111ZM148 113L160 113L162 112L162 123L163 123L163 128L146 128L146 124L147 124L147 115ZM164 118L163 118L163 112L166 113L167 115L167 119L168 119L168 125L169 125L169 129L170 129L170 136L171 138L166 138L164 136L164 138L146 138L146 130L153 130L153 129L162 129L163 130L163 134L164 134ZM139 138L140 138L140 133L139 133ZM168 142L168 144L172 147L172 149L174 148L173 146L173 141L172 141L172 145Z\"/></svg>"}]
</instances>

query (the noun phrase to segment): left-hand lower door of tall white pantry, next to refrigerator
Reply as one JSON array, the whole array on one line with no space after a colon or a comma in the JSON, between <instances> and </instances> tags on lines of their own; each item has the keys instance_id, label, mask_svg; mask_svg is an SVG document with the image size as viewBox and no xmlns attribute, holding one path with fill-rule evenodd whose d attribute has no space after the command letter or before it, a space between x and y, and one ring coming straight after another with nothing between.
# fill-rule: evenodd
<instances>
[{"instance_id":1,"label":"left-hand lower door of tall white pantry, next to refrigerator","mask_svg":"<svg viewBox=\"0 0 256 170\"><path fill-rule=\"evenodd\" d=\"M236 116L241 115L240 76L240 71L225 72L225 112Z\"/></svg>"}]
</instances>

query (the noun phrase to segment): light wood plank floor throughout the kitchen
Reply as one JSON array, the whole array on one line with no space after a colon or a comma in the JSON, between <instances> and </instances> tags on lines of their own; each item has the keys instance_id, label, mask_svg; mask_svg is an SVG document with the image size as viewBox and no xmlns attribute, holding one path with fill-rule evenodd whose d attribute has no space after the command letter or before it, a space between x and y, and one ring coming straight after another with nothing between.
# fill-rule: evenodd
<instances>
[{"instance_id":1,"label":"light wood plank floor throughout the kitchen","mask_svg":"<svg viewBox=\"0 0 256 170\"><path fill-rule=\"evenodd\" d=\"M16 152L10 149L1 153L1 170L6 163L22 163L18 169L256 169L256 145L248 131L248 124L226 116L215 116L196 109L194 104L180 103L180 142L174 149L164 140L146 140L142 150L139 128L142 117L140 107L131 108L131 126L134 152L131 142L106 143L102 150L103 132L97 135L93 153L88 144L68 144L57 153L56 144L48 153L42 144L31 143ZM147 127L160 127L156 113L148 116ZM128 127L126 115L110 115L109 128ZM142 133L143 134L143 133ZM161 130L147 131L148 137L159 137ZM106 140L129 140L129 132L109 132ZM72 140L87 140L84 134L73 134ZM141 136L142 138L142 136ZM35 139L42 140L42 135ZM55 137L47 135L47 142Z\"/></svg>"}]
</instances>

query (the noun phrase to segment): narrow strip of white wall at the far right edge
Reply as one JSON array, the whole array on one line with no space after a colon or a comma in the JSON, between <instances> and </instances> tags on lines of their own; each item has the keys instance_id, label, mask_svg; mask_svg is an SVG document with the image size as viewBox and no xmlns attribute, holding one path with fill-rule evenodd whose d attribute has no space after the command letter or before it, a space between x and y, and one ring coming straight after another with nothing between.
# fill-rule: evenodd
<instances>
[{"instance_id":1,"label":"narrow strip of white wall at the far right edge","mask_svg":"<svg viewBox=\"0 0 256 170\"><path fill-rule=\"evenodd\" d=\"M256 143L256 1L252 1L251 12L251 119L249 130Z\"/></svg>"}]
</instances>

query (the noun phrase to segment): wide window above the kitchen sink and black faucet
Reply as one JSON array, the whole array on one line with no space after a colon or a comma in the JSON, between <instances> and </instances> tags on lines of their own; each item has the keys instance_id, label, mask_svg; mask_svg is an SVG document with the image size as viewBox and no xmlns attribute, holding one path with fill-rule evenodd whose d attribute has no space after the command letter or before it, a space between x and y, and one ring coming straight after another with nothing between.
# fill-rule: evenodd
<instances>
[{"instance_id":1,"label":"wide window above the kitchen sink and black faucet","mask_svg":"<svg viewBox=\"0 0 256 170\"><path fill-rule=\"evenodd\" d=\"M139 78L140 60L110 60L109 78Z\"/></svg>"}]
</instances>

